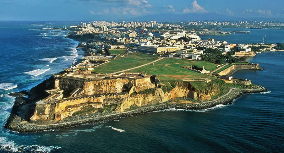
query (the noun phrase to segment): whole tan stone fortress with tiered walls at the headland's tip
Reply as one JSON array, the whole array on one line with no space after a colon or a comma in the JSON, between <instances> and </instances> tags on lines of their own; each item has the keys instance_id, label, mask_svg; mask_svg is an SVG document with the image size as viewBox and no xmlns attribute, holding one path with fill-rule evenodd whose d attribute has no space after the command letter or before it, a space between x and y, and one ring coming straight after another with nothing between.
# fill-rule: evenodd
<instances>
[{"instance_id":1,"label":"whole tan stone fortress with tiered walls at the headland's tip","mask_svg":"<svg viewBox=\"0 0 284 153\"><path fill-rule=\"evenodd\" d=\"M65 74L53 75L53 89L46 90L46 97L36 102L31 123L45 124L72 116L82 107L103 108L117 103L133 92L155 88L146 73L122 73L118 75L90 74L79 72L72 64ZM87 75L86 75L87 73ZM84 74L84 75L82 75ZM156 77L156 76L155 76ZM157 79L156 79L157 80ZM154 78L155 81L155 78Z\"/></svg>"}]
</instances>

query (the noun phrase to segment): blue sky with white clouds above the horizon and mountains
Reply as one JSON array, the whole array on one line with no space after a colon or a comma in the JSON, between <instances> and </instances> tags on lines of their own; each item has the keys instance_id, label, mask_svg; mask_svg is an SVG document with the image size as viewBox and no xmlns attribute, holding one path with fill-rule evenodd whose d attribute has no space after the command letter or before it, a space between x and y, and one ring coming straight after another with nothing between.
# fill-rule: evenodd
<instances>
[{"instance_id":1,"label":"blue sky with white clouds above the horizon and mountains","mask_svg":"<svg viewBox=\"0 0 284 153\"><path fill-rule=\"evenodd\" d=\"M0 0L0 20L127 20L145 15L220 14L284 18L283 0Z\"/></svg>"}]
</instances>

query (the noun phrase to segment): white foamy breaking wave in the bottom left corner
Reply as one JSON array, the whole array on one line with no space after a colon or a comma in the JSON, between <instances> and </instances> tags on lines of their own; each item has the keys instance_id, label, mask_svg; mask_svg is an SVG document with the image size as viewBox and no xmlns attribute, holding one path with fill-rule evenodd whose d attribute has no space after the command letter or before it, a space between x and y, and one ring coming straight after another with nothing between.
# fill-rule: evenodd
<instances>
[{"instance_id":1,"label":"white foamy breaking wave in the bottom left corner","mask_svg":"<svg viewBox=\"0 0 284 153\"><path fill-rule=\"evenodd\" d=\"M60 149L57 146L42 145L15 145L14 141L9 141L5 137L0 137L0 150L7 152L31 152L31 153L49 153Z\"/></svg>"}]
</instances>

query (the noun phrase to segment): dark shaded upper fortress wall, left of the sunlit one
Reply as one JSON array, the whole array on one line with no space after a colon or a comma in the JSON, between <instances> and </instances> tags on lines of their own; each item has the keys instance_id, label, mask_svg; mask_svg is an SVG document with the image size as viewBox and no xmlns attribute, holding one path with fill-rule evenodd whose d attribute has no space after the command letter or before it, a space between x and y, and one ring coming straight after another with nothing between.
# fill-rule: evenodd
<instances>
[{"instance_id":1,"label":"dark shaded upper fortress wall, left of the sunlit one","mask_svg":"<svg viewBox=\"0 0 284 153\"><path fill-rule=\"evenodd\" d=\"M84 80L72 77L61 77L59 79L59 87L66 93L71 93L75 88L83 88Z\"/></svg>"}]
</instances>

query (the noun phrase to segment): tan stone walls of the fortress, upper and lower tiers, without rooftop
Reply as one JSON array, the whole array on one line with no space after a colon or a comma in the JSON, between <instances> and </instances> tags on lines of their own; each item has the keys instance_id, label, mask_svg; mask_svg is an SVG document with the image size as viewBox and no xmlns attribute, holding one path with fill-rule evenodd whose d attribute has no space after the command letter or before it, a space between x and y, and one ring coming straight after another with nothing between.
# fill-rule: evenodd
<instances>
[{"instance_id":1,"label":"tan stone walls of the fortress, upper and lower tiers, without rooftop","mask_svg":"<svg viewBox=\"0 0 284 153\"><path fill-rule=\"evenodd\" d=\"M78 89L78 87L85 92L82 96L77 97L68 97L59 100L47 99L46 97L46 99L38 101L36 103L34 116L30 118L32 123L47 123L51 120L58 121L71 116L82 107L89 105L93 108L102 108L104 105L108 105L109 101L114 101L109 99L123 99L127 98L133 91L139 92L155 88L155 84L150 82L149 76L133 79L83 79L62 76L54 79L54 87L57 86L57 84L59 84L59 89L57 90L63 90L67 95L74 89ZM127 86L129 89L126 89L124 86ZM123 90L128 90L128 92L123 92Z\"/></svg>"}]
</instances>

